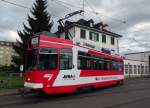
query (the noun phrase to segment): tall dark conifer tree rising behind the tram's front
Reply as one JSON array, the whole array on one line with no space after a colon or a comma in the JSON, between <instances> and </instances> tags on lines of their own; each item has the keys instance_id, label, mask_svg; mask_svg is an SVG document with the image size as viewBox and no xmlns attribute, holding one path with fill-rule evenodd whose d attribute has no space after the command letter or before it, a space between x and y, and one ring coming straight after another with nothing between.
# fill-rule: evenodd
<instances>
[{"instance_id":1,"label":"tall dark conifer tree rising behind the tram's front","mask_svg":"<svg viewBox=\"0 0 150 108\"><path fill-rule=\"evenodd\" d=\"M36 0L30 10L32 16L28 15L28 24L23 23L24 29L18 31L18 35L21 41L17 40L17 44L14 46L16 55L13 56L13 62L15 67L25 63L27 43L33 34L42 31L51 31L52 21L50 15L46 11L47 0Z\"/></svg>"}]
</instances>

